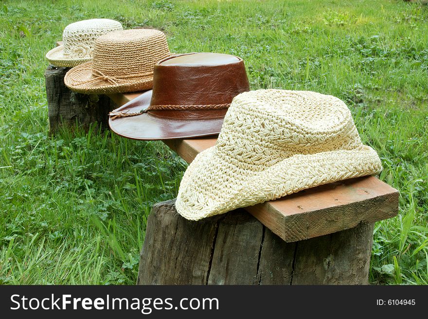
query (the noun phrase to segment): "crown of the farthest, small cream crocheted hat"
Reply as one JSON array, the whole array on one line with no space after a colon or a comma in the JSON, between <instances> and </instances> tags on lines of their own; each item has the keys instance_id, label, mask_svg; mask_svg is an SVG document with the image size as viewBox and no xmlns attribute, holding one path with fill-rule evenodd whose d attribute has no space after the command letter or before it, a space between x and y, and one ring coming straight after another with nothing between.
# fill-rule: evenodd
<instances>
[{"instance_id":1,"label":"crown of the farthest, small cream crocheted hat","mask_svg":"<svg viewBox=\"0 0 428 319\"><path fill-rule=\"evenodd\" d=\"M119 21L89 19L77 21L65 27L62 34L64 55L68 58L92 57L95 40L109 32L123 30Z\"/></svg>"}]
</instances>

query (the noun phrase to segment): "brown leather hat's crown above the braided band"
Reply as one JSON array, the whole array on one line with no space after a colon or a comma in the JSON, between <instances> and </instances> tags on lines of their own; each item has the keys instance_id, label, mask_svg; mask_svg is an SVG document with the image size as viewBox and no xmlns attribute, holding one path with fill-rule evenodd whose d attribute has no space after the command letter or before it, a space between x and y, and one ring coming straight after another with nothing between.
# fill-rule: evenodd
<instances>
[{"instance_id":1,"label":"brown leather hat's crown above the braided band","mask_svg":"<svg viewBox=\"0 0 428 319\"><path fill-rule=\"evenodd\" d=\"M155 65L150 104L229 105L236 95L249 90L241 58L222 53L186 53Z\"/></svg>"}]
</instances>

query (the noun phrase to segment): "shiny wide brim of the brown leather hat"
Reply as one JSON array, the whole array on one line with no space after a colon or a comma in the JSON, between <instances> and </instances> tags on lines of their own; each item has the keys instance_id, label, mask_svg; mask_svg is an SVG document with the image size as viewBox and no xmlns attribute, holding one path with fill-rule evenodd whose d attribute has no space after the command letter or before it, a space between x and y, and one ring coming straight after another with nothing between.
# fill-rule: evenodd
<instances>
[{"instance_id":1,"label":"shiny wide brim of the brown leather hat","mask_svg":"<svg viewBox=\"0 0 428 319\"><path fill-rule=\"evenodd\" d=\"M138 113L150 105L152 90L130 101L116 112ZM121 136L137 140L191 138L220 133L224 115L222 110L167 110L149 111L127 118L109 118L110 129Z\"/></svg>"}]
</instances>

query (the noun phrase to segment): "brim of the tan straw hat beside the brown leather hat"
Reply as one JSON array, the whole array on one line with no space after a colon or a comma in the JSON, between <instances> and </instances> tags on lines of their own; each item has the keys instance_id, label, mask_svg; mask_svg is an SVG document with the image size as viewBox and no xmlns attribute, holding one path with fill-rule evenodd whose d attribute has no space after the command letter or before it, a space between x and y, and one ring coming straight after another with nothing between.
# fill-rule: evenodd
<instances>
[{"instance_id":1,"label":"brim of the tan straw hat beside the brown leather hat","mask_svg":"<svg viewBox=\"0 0 428 319\"><path fill-rule=\"evenodd\" d=\"M73 67L64 77L65 85L72 91L85 94L108 94L151 89L153 75L123 81L124 83L115 84L102 77L94 78L92 75L92 61Z\"/></svg>"}]
</instances>

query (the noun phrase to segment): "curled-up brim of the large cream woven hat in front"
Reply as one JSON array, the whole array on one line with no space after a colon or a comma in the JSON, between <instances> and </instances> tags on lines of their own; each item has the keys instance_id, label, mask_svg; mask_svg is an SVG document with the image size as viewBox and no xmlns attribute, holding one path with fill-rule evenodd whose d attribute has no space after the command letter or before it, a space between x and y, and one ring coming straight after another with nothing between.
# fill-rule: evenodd
<instances>
[{"instance_id":1,"label":"curled-up brim of the large cream woven hat in front","mask_svg":"<svg viewBox=\"0 0 428 319\"><path fill-rule=\"evenodd\" d=\"M238 168L214 146L199 153L187 168L176 208L184 218L199 220L318 185L375 175L381 169L377 153L365 145L298 154L261 171Z\"/></svg>"}]
</instances>

